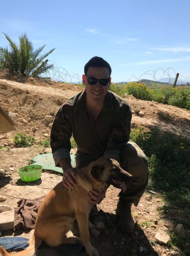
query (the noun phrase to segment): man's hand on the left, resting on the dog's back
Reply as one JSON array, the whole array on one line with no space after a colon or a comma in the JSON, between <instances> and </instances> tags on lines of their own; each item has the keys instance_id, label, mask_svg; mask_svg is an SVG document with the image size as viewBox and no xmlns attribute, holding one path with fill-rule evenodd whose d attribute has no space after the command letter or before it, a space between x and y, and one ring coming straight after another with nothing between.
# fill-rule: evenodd
<instances>
[{"instance_id":1,"label":"man's hand on the left, resting on the dog's back","mask_svg":"<svg viewBox=\"0 0 190 256\"><path fill-rule=\"evenodd\" d=\"M71 167L64 171L63 185L66 188L74 188L77 185L77 175L75 172L80 172L80 169Z\"/></svg>"}]
</instances>

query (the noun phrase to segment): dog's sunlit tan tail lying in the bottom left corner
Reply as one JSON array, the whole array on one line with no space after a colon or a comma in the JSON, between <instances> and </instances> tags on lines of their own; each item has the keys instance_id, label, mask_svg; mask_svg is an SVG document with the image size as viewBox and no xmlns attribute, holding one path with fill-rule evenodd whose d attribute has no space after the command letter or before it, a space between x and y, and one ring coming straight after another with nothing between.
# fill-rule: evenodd
<instances>
[{"instance_id":1,"label":"dog's sunlit tan tail lying in the bottom left corner","mask_svg":"<svg viewBox=\"0 0 190 256\"><path fill-rule=\"evenodd\" d=\"M36 249L38 248L38 246L40 246L42 241L43 241L42 239L34 236L34 234L33 234L33 237L29 241L28 248L21 252L14 254L14 255L15 256L34 256ZM8 253L4 248L2 248L0 246L0 256L10 256L10 255L12 255L12 254Z\"/></svg>"}]
</instances>

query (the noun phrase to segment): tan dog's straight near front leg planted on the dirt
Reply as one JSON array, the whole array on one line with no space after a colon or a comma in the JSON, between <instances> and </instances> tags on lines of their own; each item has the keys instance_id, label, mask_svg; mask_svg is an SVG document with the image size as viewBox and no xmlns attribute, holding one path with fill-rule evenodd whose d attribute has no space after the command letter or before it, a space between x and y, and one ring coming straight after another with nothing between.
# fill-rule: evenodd
<instances>
[{"instance_id":1,"label":"tan dog's straight near front leg planted on the dirt","mask_svg":"<svg viewBox=\"0 0 190 256\"><path fill-rule=\"evenodd\" d=\"M88 214L79 213L76 214L77 222L80 230L81 240L84 244L86 252L89 256L98 256L99 253L96 251L95 248L92 247L90 243L90 235L88 231Z\"/></svg>"}]
</instances>

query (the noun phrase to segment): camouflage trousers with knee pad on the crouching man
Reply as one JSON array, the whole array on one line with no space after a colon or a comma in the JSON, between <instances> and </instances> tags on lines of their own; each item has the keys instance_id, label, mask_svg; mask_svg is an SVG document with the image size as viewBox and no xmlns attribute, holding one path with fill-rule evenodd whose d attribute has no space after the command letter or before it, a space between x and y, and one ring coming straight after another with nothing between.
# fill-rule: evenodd
<instances>
[{"instance_id":1,"label":"camouflage trousers with knee pad on the crouching man","mask_svg":"<svg viewBox=\"0 0 190 256\"><path fill-rule=\"evenodd\" d=\"M85 167L102 157L104 152L96 154L84 154L77 151L76 167ZM135 206L138 205L148 184L148 160L143 151L134 142L128 142L121 150L120 166L132 175L132 179L126 182L126 191L119 193L119 197L130 200Z\"/></svg>"}]
</instances>

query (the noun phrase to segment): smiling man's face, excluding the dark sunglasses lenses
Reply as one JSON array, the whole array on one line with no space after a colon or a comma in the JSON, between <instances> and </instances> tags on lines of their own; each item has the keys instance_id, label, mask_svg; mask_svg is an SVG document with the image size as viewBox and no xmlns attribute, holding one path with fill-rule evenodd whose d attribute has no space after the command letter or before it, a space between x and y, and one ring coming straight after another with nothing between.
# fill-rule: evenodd
<instances>
[{"instance_id":1,"label":"smiling man's face, excluding the dark sunglasses lenses","mask_svg":"<svg viewBox=\"0 0 190 256\"><path fill-rule=\"evenodd\" d=\"M109 78L108 68L89 67L87 72L87 77L97 78L97 79ZM86 95L88 98L90 98L93 101L94 100L101 101L104 99L110 87L110 83L111 82L109 81L109 83L106 86L102 86L99 84L99 81L98 81L96 84L90 85L88 84L86 76L83 75L83 84L86 87Z\"/></svg>"}]
</instances>

